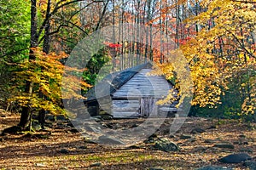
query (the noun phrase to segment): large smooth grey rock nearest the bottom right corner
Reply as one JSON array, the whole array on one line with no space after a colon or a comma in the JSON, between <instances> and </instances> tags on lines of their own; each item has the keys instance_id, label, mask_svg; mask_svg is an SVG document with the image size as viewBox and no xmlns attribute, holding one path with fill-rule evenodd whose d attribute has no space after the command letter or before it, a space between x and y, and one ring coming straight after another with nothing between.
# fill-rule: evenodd
<instances>
[{"instance_id":1,"label":"large smooth grey rock nearest the bottom right corner","mask_svg":"<svg viewBox=\"0 0 256 170\"><path fill-rule=\"evenodd\" d=\"M242 161L251 160L252 157L247 153L231 154L229 156L224 156L218 161L223 163L241 163Z\"/></svg>"}]
</instances>

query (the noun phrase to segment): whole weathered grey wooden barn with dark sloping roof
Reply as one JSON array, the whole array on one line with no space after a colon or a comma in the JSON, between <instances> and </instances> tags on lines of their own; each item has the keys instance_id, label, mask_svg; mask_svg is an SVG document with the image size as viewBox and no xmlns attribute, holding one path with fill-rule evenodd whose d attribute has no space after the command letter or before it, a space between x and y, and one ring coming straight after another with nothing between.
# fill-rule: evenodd
<instances>
[{"instance_id":1,"label":"whole weathered grey wooden barn with dark sloping roof","mask_svg":"<svg viewBox=\"0 0 256 170\"><path fill-rule=\"evenodd\" d=\"M156 105L173 85L165 77L149 76L150 71L152 64L148 62L104 77L86 95L84 103L90 115L108 113L114 118L131 118L177 112L175 104Z\"/></svg>"}]
</instances>

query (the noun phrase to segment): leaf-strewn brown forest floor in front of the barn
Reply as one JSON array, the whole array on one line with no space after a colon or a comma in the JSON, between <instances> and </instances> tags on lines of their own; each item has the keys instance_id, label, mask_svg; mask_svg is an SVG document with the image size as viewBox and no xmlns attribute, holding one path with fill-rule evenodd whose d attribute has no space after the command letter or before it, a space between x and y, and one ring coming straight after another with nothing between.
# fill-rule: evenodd
<instances>
[{"instance_id":1,"label":"leaf-strewn brown forest floor in front of the barn","mask_svg":"<svg viewBox=\"0 0 256 170\"><path fill-rule=\"evenodd\" d=\"M177 133L169 134L167 118L155 134L178 144L181 150L166 152L155 150L152 144L137 147L110 147L93 144L83 138L73 127L53 122L48 131L40 133L6 134L0 136L0 169L196 169L209 165L247 169L242 163L224 164L219 158L232 153L247 152L255 161L256 125L234 121L189 117ZM0 112L0 132L19 121L18 114ZM112 120L122 127L143 119ZM195 127L203 133L191 133ZM182 134L189 139L181 138ZM234 148L213 147L216 143L230 143Z\"/></svg>"}]
</instances>

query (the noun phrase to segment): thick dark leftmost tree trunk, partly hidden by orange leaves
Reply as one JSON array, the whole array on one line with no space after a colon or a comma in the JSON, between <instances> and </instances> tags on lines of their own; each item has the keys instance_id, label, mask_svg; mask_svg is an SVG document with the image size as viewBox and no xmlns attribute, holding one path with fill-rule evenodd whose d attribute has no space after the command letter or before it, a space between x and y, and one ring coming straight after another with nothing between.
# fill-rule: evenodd
<instances>
[{"instance_id":1,"label":"thick dark leftmost tree trunk, partly hidden by orange leaves","mask_svg":"<svg viewBox=\"0 0 256 170\"><path fill-rule=\"evenodd\" d=\"M30 54L29 59L35 59L35 56L33 54L32 48L38 47L38 22L37 22L37 0L31 0L31 38L30 38ZM32 87L33 84L30 81L26 82L26 88L25 93L27 93L29 96L32 96ZM19 126L25 129L30 125L32 118L32 112L30 104L24 105L22 107L21 116L20 116L20 122Z\"/></svg>"}]
</instances>

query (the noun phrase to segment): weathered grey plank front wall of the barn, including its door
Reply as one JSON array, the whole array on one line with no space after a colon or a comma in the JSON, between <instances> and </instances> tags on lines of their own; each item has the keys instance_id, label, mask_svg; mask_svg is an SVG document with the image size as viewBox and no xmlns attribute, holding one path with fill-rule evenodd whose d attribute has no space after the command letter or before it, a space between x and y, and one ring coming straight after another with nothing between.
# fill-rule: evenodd
<instances>
[{"instance_id":1,"label":"weathered grey plank front wall of the barn, including its door","mask_svg":"<svg viewBox=\"0 0 256 170\"><path fill-rule=\"evenodd\" d=\"M158 116L172 108L156 105L172 88L165 77L148 76L152 69L142 69L113 94L113 117ZM175 108L173 108L175 110Z\"/></svg>"}]
</instances>

